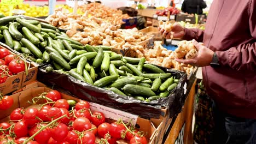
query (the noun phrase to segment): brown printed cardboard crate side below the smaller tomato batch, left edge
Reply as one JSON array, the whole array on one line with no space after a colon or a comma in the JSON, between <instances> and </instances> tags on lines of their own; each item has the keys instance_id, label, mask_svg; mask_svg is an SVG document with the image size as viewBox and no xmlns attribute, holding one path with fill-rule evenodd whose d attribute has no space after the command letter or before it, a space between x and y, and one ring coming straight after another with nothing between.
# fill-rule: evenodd
<instances>
[{"instance_id":1,"label":"brown printed cardboard crate side below the smaller tomato batch, left edge","mask_svg":"<svg viewBox=\"0 0 256 144\"><path fill-rule=\"evenodd\" d=\"M6 49L6 47L0 45L0 49ZM30 67L28 68L28 75L26 75L26 72L23 71L16 75L8 77L4 83L0 84L0 92L5 95L14 92L17 89L20 89L21 87L27 85L28 83L31 83L32 81L35 81L37 79L37 72L38 65L35 63L30 63Z\"/></svg>"}]
</instances>

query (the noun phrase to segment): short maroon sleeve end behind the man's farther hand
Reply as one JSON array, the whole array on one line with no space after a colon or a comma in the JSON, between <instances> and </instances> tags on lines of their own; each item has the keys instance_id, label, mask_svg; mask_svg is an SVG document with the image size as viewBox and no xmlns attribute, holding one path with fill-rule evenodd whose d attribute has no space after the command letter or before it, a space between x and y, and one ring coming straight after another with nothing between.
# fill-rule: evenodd
<instances>
[{"instance_id":1,"label":"short maroon sleeve end behind the man's farther hand","mask_svg":"<svg viewBox=\"0 0 256 144\"><path fill-rule=\"evenodd\" d=\"M196 41L202 42L203 32L204 31L198 28L185 28L185 35L182 39L184 40L195 39Z\"/></svg>"}]
</instances>

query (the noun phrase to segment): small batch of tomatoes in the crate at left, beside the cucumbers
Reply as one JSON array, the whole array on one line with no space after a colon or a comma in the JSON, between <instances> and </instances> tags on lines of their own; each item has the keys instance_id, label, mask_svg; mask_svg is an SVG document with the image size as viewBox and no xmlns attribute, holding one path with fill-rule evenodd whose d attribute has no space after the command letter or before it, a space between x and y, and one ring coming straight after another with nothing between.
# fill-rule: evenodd
<instances>
[{"instance_id":1,"label":"small batch of tomatoes in the crate at left, beside the cucumbers","mask_svg":"<svg viewBox=\"0 0 256 144\"><path fill-rule=\"evenodd\" d=\"M25 62L7 49L0 49L0 83L4 83L13 74L25 71Z\"/></svg>"}]
</instances>

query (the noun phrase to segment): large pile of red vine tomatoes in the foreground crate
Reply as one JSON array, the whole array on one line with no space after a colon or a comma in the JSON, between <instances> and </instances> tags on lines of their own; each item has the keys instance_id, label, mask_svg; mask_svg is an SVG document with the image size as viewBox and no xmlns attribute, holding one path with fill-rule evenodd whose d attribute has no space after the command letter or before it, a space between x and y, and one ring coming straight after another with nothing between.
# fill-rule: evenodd
<instances>
[{"instance_id":1,"label":"large pile of red vine tomatoes in the foreground crate","mask_svg":"<svg viewBox=\"0 0 256 144\"><path fill-rule=\"evenodd\" d=\"M102 112L90 111L87 101L80 100L70 107L55 90L32 101L36 103L39 99L45 100L40 109L15 109L10 114L13 125L0 123L0 144L114 144L119 139L130 141L130 144L147 143L142 131L135 130L121 119L107 123Z\"/></svg>"}]
</instances>

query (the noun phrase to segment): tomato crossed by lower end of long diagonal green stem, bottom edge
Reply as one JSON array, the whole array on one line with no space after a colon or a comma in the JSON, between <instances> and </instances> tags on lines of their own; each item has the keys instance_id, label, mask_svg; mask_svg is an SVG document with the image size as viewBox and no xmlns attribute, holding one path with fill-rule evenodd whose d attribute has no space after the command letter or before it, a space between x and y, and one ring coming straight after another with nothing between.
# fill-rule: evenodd
<instances>
[{"instance_id":1,"label":"tomato crossed by lower end of long diagonal green stem, bottom edge","mask_svg":"<svg viewBox=\"0 0 256 144\"><path fill-rule=\"evenodd\" d=\"M37 131L44 127L46 124L37 124L34 125L30 130L28 130L28 134L32 136L34 133L37 133ZM45 128L44 130L40 131L38 135L34 137L34 140L36 140L38 143L46 143L51 137L51 130L49 128Z\"/></svg>"}]
</instances>

